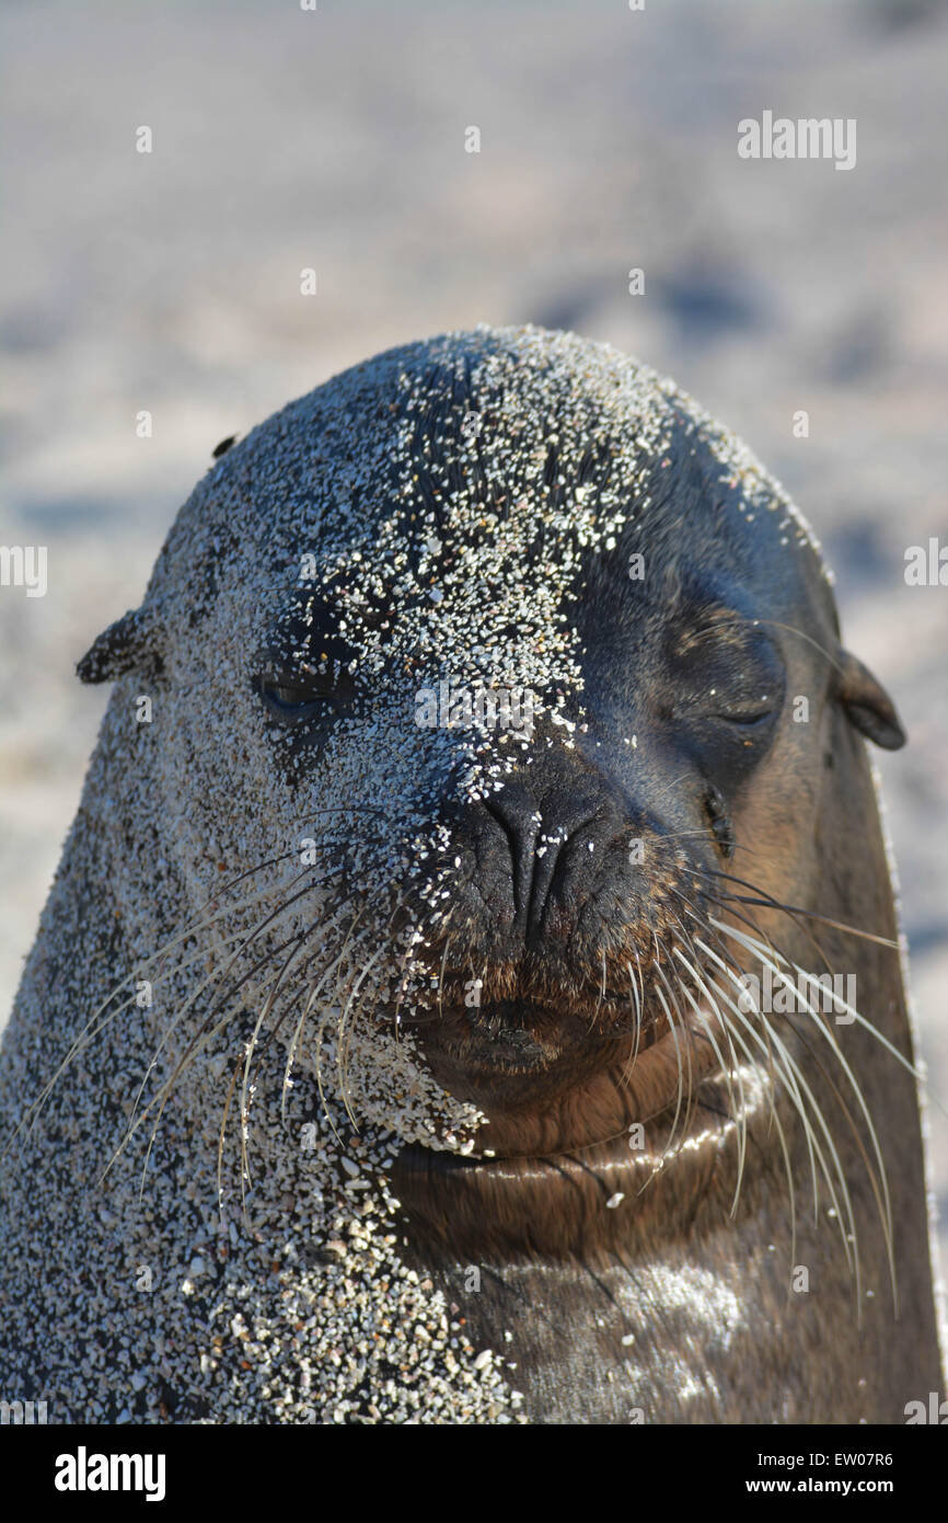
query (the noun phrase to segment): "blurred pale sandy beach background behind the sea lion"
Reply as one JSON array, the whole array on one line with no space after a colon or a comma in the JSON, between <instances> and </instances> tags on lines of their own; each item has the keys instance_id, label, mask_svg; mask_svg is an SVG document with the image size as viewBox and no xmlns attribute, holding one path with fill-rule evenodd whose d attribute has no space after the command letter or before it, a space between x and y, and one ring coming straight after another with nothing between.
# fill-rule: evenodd
<instances>
[{"instance_id":1,"label":"blurred pale sandy beach background behind the sea lion","mask_svg":"<svg viewBox=\"0 0 948 1523\"><path fill-rule=\"evenodd\" d=\"M0 589L0 1020L108 696L73 664L218 440L380 349L534 321L671 373L823 539L910 734L876 755L948 1106L948 588L904 583L948 542L948 9L6 0L3 30L0 544L47 545L49 592ZM855 117L855 168L738 158L764 110Z\"/></svg>"}]
</instances>

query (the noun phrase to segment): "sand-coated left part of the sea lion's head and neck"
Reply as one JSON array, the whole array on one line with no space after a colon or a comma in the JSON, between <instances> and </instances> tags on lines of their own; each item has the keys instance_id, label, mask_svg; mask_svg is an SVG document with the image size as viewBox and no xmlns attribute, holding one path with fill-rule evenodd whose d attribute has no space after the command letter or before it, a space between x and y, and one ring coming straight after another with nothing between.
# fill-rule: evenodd
<instances>
[{"instance_id":1,"label":"sand-coated left part of the sea lion's head and neck","mask_svg":"<svg viewBox=\"0 0 948 1523\"><path fill-rule=\"evenodd\" d=\"M3 1129L35 1122L3 1167L9 1400L50 1421L522 1419L516 1328L472 1348L466 1266L453 1301L405 1266L388 1174L405 1142L472 1147L478 1113L411 1036L452 912L440 812L531 742L420 728L417 693L528 688L536 743L569 746L583 568L647 530L682 431L718 512L778 515L787 553L816 553L671 382L530 327L359 366L198 484L6 1036ZM274 666L345 675L318 745L266 717Z\"/></svg>"}]
</instances>

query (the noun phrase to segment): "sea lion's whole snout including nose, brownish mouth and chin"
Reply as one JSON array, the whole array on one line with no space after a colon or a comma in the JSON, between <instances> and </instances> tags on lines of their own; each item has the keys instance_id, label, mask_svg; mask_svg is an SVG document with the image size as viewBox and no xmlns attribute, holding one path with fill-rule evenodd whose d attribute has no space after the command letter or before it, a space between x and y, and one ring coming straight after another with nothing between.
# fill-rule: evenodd
<instances>
[{"instance_id":1,"label":"sea lion's whole snout including nose, brownish mouth and chin","mask_svg":"<svg viewBox=\"0 0 948 1523\"><path fill-rule=\"evenodd\" d=\"M431 987L408 1017L438 1081L491 1115L504 1150L502 1113L549 1116L621 1072L633 1046L645 1072L666 1019L642 999L642 978L668 963L685 903L677 815L648 806L645 774L630 790L590 754L548 740L542 728L501 787L449 809L450 862L432 862L431 879L450 882L450 915L418 953ZM711 865L718 847L705 830ZM613 1104L615 1087L610 1118L622 1124L628 1097Z\"/></svg>"}]
</instances>

